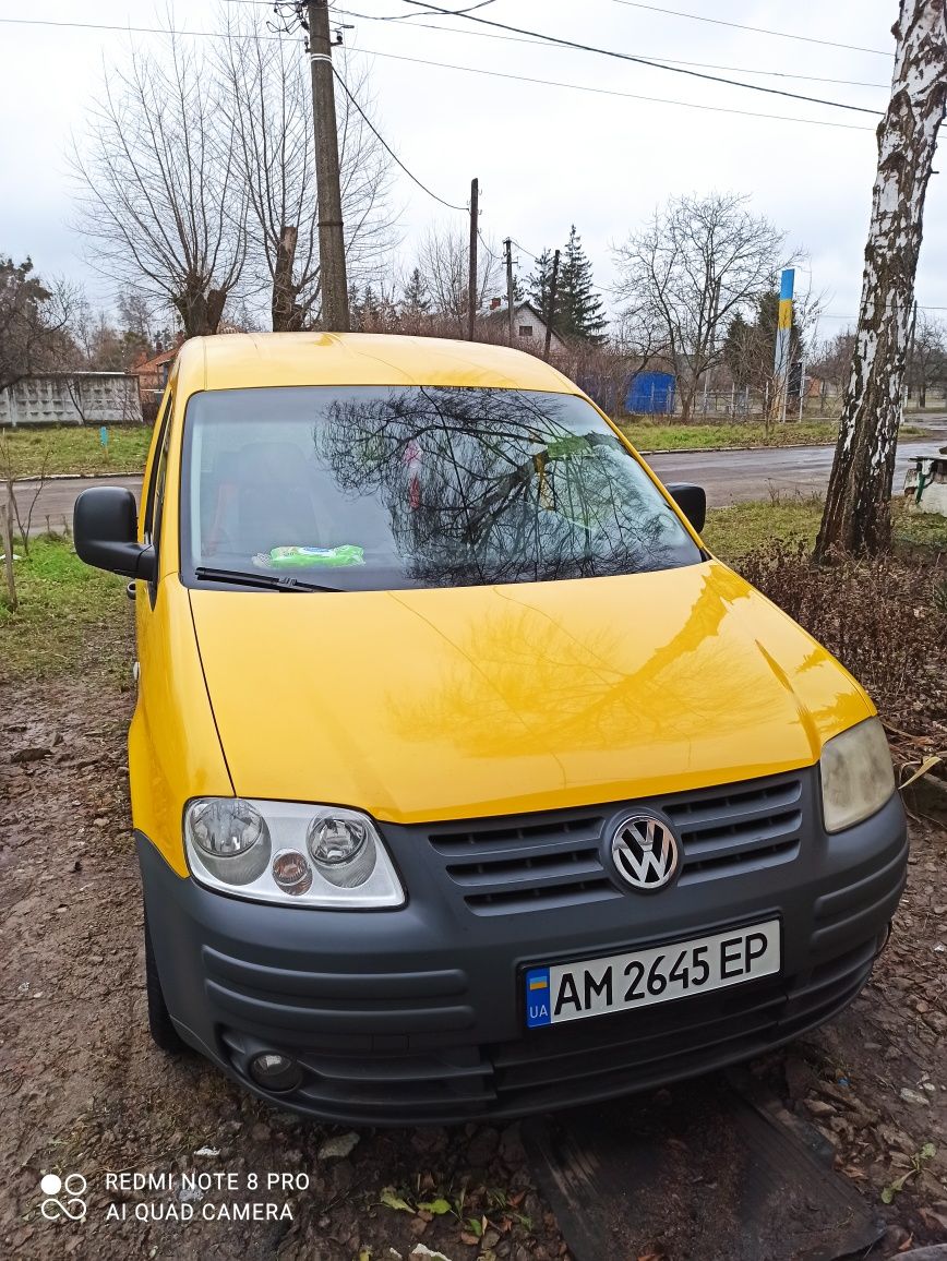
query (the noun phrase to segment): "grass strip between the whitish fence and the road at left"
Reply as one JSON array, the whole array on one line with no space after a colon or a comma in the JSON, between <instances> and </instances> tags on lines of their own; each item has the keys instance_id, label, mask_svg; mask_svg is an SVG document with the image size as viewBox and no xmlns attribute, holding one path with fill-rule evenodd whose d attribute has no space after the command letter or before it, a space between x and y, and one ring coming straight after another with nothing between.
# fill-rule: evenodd
<instances>
[{"instance_id":1,"label":"grass strip between the whitish fence and the road at left","mask_svg":"<svg viewBox=\"0 0 947 1261\"><path fill-rule=\"evenodd\" d=\"M140 473L150 443L150 425L110 425L107 446L98 439L98 425L8 429L0 433L0 468L6 449L18 478L38 477L44 458L47 473Z\"/></svg>"}]
</instances>

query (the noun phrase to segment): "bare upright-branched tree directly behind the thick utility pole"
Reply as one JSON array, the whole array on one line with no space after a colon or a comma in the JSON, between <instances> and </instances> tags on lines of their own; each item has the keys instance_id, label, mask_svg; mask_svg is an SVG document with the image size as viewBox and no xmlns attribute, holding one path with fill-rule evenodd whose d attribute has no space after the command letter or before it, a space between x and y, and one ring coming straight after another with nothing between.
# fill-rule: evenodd
<instances>
[{"instance_id":1,"label":"bare upright-branched tree directly behind the thick utility pole","mask_svg":"<svg viewBox=\"0 0 947 1261\"><path fill-rule=\"evenodd\" d=\"M308 63L299 44L261 33L256 14L229 6L224 20L228 39L217 50L217 91L250 197L250 280L270 290L275 330L306 328L318 322L322 306ZM371 116L367 86L367 72L348 83ZM368 284L396 243L390 164L349 97L339 97L347 270L354 284Z\"/></svg>"}]
</instances>

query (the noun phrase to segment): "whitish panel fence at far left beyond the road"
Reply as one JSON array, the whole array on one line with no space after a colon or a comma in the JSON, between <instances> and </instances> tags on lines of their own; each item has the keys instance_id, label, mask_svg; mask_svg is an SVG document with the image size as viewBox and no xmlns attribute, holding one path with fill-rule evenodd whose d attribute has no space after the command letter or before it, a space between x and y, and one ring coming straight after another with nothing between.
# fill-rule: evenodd
<instances>
[{"instance_id":1,"label":"whitish panel fence at far left beyond the road","mask_svg":"<svg viewBox=\"0 0 947 1261\"><path fill-rule=\"evenodd\" d=\"M0 426L140 424L137 377L125 372L24 377L0 390Z\"/></svg>"}]
</instances>

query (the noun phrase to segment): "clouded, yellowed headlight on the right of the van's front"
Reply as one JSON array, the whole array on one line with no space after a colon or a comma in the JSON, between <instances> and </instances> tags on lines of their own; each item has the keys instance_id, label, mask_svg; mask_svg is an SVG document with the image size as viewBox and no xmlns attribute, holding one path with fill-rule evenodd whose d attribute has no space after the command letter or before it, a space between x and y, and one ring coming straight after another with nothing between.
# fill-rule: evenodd
<instances>
[{"instance_id":1,"label":"clouded, yellowed headlight on the right of the van's front","mask_svg":"<svg viewBox=\"0 0 947 1261\"><path fill-rule=\"evenodd\" d=\"M822 749L822 816L827 832L868 818L894 792L894 768L880 719L834 736Z\"/></svg>"}]
</instances>

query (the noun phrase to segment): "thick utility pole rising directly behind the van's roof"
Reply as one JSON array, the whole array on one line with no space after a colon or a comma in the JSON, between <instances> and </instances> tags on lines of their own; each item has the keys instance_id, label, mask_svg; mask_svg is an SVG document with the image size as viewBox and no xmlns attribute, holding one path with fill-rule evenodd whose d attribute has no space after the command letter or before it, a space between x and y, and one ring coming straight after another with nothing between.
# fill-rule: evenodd
<instances>
[{"instance_id":1,"label":"thick utility pole rising directly behind the van's roof","mask_svg":"<svg viewBox=\"0 0 947 1261\"><path fill-rule=\"evenodd\" d=\"M332 68L328 0L309 0L309 69L313 78L315 126L315 188L319 198L319 277L323 290L323 325L348 333L348 279L346 237L342 231L339 137L335 126L335 83Z\"/></svg>"}]
</instances>

